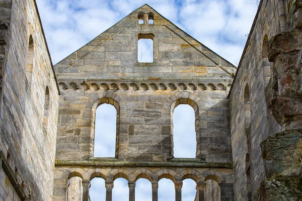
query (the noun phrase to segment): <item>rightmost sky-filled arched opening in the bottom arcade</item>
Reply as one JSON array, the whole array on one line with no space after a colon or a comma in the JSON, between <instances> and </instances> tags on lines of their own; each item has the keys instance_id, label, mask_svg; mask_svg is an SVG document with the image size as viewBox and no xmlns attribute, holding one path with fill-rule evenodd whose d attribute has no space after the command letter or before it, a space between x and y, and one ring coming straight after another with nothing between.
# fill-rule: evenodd
<instances>
[{"instance_id":1,"label":"rightmost sky-filled arched opening in the bottom arcade","mask_svg":"<svg viewBox=\"0 0 302 201\"><path fill-rule=\"evenodd\" d=\"M184 179L181 188L181 200L195 200L196 197L196 182L193 179Z\"/></svg>"}]
</instances>

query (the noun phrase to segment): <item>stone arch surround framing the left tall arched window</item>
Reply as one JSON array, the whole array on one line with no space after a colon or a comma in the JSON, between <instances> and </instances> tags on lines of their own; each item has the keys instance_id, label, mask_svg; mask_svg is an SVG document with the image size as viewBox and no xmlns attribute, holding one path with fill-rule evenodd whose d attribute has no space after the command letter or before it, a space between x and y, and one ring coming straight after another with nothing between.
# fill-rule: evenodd
<instances>
[{"instance_id":1,"label":"stone arch surround framing the left tall arched window","mask_svg":"<svg viewBox=\"0 0 302 201\"><path fill-rule=\"evenodd\" d=\"M91 148L90 148L90 157L94 156L94 139L95 139L95 115L97 108L102 104L110 104L115 107L117 115L116 115L116 144L115 144L115 157L118 158L119 153L119 120L120 120L120 108L121 104L125 108L125 103L120 96L117 96L115 93L111 91L103 91L99 93L93 94L93 96L86 103L85 108L91 109Z\"/></svg>"}]
</instances>

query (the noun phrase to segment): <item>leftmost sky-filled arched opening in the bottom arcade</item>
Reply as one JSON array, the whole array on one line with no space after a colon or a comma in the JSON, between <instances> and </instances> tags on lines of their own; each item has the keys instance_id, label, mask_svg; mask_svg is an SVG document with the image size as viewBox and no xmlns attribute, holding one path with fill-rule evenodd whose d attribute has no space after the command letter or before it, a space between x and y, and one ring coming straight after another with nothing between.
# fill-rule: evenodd
<instances>
[{"instance_id":1,"label":"leftmost sky-filled arched opening in the bottom arcade","mask_svg":"<svg viewBox=\"0 0 302 201\"><path fill-rule=\"evenodd\" d=\"M91 201L105 201L106 188L105 179L95 177L90 181L91 187L89 189L89 197Z\"/></svg>"}]
</instances>

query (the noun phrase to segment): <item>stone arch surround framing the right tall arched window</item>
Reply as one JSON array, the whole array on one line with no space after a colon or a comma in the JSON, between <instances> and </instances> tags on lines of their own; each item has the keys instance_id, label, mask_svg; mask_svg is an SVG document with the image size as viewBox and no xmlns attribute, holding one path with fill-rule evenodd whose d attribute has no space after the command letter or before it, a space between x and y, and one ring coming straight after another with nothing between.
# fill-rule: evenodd
<instances>
[{"instance_id":1,"label":"stone arch surround framing the right tall arched window","mask_svg":"<svg viewBox=\"0 0 302 201\"><path fill-rule=\"evenodd\" d=\"M163 113L164 114L170 114L170 128L171 128L171 141L172 141L172 151L171 154L173 154L173 112L174 109L180 105L180 104L187 104L190 105L194 112L195 112L195 134L196 134L196 144L197 144L197 149L196 149L196 157L198 157L198 139L199 139L199 110L204 109L205 110L205 105L200 97L198 97L196 94L189 92L189 91L179 91L177 93L174 93L171 95L165 102L164 108L163 108Z\"/></svg>"}]
</instances>

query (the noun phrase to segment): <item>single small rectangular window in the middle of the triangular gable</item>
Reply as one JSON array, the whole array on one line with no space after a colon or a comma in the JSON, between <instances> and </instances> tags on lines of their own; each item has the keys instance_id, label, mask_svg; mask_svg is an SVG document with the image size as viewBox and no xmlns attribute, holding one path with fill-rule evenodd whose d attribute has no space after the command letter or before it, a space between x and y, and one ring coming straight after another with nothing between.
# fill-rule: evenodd
<instances>
[{"instance_id":1,"label":"single small rectangular window in the middle of the triangular gable","mask_svg":"<svg viewBox=\"0 0 302 201\"><path fill-rule=\"evenodd\" d=\"M139 34L137 44L138 62L153 62L153 34Z\"/></svg>"}]
</instances>

